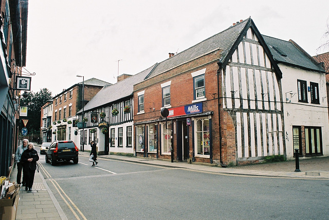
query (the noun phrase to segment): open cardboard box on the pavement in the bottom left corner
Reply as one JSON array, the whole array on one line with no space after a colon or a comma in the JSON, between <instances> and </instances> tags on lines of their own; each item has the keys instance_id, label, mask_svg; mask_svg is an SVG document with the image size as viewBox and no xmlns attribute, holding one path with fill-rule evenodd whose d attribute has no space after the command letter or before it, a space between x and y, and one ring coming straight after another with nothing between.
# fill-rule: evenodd
<instances>
[{"instance_id":1,"label":"open cardboard box on the pavement in the bottom left corner","mask_svg":"<svg viewBox=\"0 0 329 220\"><path fill-rule=\"evenodd\" d=\"M17 206L19 205L20 195L16 194L13 198L0 199L0 220L15 220Z\"/></svg>"}]
</instances>

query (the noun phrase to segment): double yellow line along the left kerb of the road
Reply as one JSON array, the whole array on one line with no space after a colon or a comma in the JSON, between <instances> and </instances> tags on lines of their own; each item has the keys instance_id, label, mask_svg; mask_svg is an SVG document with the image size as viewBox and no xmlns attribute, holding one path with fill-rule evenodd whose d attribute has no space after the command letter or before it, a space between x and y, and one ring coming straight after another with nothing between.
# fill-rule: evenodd
<instances>
[{"instance_id":1,"label":"double yellow line along the left kerb of the road","mask_svg":"<svg viewBox=\"0 0 329 220\"><path fill-rule=\"evenodd\" d=\"M81 215L82 219L87 220L87 218L82 214L82 212L80 211L80 209L76 206L76 204L74 204L74 202L71 201L71 199L68 197L68 195L64 192L64 190L60 187L60 185L51 177L51 175L47 172L47 170L43 167L42 164L40 164L38 162L39 167L43 170L43 172L46 174L47 178L49 179L49 181L52 183L52 185L55 187L55 189L57 190L58 194L62 197L63 201L66 203L66 205L68 206L68 208L72 211L72 213L76 216L76 218L78 220L81 220L81 218L79 217L79 215L77 214L77 212L79 212L79 214ZM65 198L65 197L66 198ZM67 202L69 201L69 202ZM71 204L71 205L70 205ZM72 208L72 206L74 208ZM77 212L74 210L76 209Z\"/></svg>"}]
</instances>

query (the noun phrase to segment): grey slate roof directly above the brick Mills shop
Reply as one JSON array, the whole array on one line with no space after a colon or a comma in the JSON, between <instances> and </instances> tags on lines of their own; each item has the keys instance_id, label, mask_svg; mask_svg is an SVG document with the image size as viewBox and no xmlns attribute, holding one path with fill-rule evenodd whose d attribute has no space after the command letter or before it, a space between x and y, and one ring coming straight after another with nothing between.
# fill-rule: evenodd
<instances>
[{"instance_id":1,"label":"grey slate roof directly above the brick Mills shop","mask_svg":"<svg viewBox=\"0 0 329 220\"><path fill-rule=\"evenodd\" d=\"M205 39L204 41L166 59L165 61L162 61L156 66L156 68L154 69L154 71L152 71L148 78L166 72L179 65L188 63L193 59L206 55L219 48L223 49L223 56L220 59L220 61L223 61L223 59L235 43L237 37L239 37L242 30L245 28L246 24L250 19L251 18L248 18L242 21L241 23L236 24L235 26L231 26L228 29L217 33Z\"/></svg>"}]
</instances>

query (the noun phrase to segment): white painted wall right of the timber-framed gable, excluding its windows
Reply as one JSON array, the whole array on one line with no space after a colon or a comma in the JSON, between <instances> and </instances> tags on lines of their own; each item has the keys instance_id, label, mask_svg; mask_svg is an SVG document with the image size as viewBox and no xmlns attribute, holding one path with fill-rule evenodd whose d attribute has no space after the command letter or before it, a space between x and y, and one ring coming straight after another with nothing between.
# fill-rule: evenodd
<instances>
[{"instance_id":1,"label":"white painted wall right of the timber-framed gable, excluding its windows","mask_svg":"<svg viewBox=\"0 0 329 220\"><path fill-rule=\"evenodd\" d=\"M282 99L284 110L284 129L287 159L293 159L293 126L316 126L322 130L323 155L329 156L329 120L327 108L327 94L325 74L302 70L295 67L279 64L282 71ZM320 104L310 103L310 92L307 92L308 103L298 102L297 79L319 84ZM291 91L291 92L290 92ZM286 94L287 93L287 94ZM286 98L288 100L286 101Z\"/></svg>"}]
</instances>

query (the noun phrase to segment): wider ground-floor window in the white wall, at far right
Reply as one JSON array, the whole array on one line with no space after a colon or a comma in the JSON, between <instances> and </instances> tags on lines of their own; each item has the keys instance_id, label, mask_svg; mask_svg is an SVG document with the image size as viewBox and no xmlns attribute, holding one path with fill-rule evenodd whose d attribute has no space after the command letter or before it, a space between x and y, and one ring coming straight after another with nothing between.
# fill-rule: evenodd
<instances>
[{"instance_id":1,"label":"wider ground-floor window in the white wall, at far right","mask_svg":"<svg viewBox=\"0 0 329 220\"><path fill-rule=\"evenodd\" d=\"M321 127L305 126L306 156L323 155Z\"/></svg>"}]
</instances>

